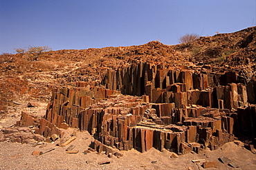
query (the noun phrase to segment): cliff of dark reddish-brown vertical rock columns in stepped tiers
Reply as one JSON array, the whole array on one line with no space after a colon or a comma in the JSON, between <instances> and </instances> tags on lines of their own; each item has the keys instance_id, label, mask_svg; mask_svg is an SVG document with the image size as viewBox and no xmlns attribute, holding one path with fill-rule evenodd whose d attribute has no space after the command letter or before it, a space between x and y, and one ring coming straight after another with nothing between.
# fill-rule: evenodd
<instances>
[{"instance_id":1,"label":"cliff of dark reddish-brown vertical rock columns in stepped tiers","mask_svg":"<svg viewBox=\"0 0 256 170\"><path fill-rule=\"evenodd\" d=\"M54 89L39 134L51 135L52 125L86 130L100 152L109 147L181 154L218 149L234 141L234 134L255 135L256 106L248 105L248 93L255 89L242 81L230 70L195 72L148 63L120 67L102 76L108 89L82 82Z\"/></svg>"}]
</instances>

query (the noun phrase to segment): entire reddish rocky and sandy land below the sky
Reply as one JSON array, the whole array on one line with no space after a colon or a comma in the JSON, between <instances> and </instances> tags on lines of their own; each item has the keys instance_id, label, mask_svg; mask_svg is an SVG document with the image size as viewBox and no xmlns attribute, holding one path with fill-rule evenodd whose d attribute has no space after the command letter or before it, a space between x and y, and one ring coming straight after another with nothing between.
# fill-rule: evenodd
<instances>
[{"instance_id":1,"label":"entire reddish rocky and sandy land below the sky","mask_svg":"<svg viewBox=\"0 0 256 170\"><path fill-rule=\"evenodd\" d=\"M151 41L36 55L36 59L26 52L0 56L0 169L256 169L255 27L179 45ZM174 70L175 81L169 70ZM97 112L98 124L87 125L82 116L97 109L111 116L103 122ZM129 116L140 119L126 126ZM154 142L147 143L147 131L163 126L161 131L167 131L169 124L175 125L170 129L181 134L182 142L177 139L170 147L170 138L161 136L158 141L154 136ZM194 127L196 133L190 129ZM128 130L119 132L123 128ZM146 129L145 140L141 135L134 142L129 128ZM206 136L196 139L203 133ZM50 138L53 134L59 138ZM221 140L222 134L228 136L226 140ZM75 140L57 146L71 136ZM95 140L113 151L100 150L102 144ZM75 146L71 151L78 152L66 153L70 145ZM32 155L33 151L43 154ZM221 156L230 161L222 162Z\"/></svg>"}]
</instances>

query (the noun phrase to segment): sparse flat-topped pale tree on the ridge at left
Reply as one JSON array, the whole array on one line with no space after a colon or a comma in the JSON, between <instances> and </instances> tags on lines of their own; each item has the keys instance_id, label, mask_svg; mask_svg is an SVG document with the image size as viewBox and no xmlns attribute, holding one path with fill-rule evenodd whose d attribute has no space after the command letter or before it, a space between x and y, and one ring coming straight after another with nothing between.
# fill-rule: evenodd
<instances>
[{"instance_id":1,"label":"sparse flat-topped pale tree on the ridge at left","mask_svg":"<svg viewBox=\"0 0 256 170\"><path fill-rule=\"evenodd\" d=\"M25 48L15 48L16 52L19 54L27 54L30 56L32 61L37 61L37 58L43 53L51 50L48 46L29 46Z\"/></svg>"}]
</instances>

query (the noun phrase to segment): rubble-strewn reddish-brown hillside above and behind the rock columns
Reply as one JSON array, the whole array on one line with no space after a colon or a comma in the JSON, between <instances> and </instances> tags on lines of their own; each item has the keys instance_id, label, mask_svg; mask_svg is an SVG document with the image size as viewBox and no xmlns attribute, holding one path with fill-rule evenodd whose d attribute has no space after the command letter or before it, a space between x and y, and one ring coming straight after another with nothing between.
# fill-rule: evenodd
<instances>
[{"instance_id":1,"label":"rubble-strewn reddish-brown hillside above and behind the rock columns","mask_svg":"<svg viewBox=\"0 0 256 170\"><path fill-rule=\"evenodd\" d=\"M117 70L131 63L155 63L180 67L212 65L221 70L255 70L256 27L230 34L201 36L192 43L104 47L87 50L44 52L33 61L28 54L0 56L0 96L4 100L48 100L51 88L75 81L100 81L106 70ZM222 67L224 66L224 67ZM251 75L250 75L251 76Z\"/></svg>"}]
</instances>

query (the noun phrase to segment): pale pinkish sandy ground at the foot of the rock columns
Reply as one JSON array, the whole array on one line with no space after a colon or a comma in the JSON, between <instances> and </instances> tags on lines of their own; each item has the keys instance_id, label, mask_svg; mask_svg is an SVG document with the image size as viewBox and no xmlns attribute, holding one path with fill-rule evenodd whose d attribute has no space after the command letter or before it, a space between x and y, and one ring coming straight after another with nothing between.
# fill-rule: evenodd
<instances>
[{"instance_id":1,"label":"pale pinkish sandy ground at the foot of the rock columns","mask_svg":"<svg viewBox=\"0 0 256 170\"><path fill-rule=\"evenodd\" d=\"M29 108L30 112L44 115L46 104L40 103L42 107ZM20 109L13 109L8 116L1 118L0 129L10 127L20 118L21 110L28 109L26 105L19 106ZM70 138L70 134L77 129L68 128L64 138ZM197 165L192 160L205 159L205 161L217 162L217 168L207 169L256 169L256 154L248 151L239 142L229 142L215 151L202 151L199 154L188 153L179 158L170 158L170 151L158 151L154 148L145 153L134 149L131 151L120 151L123 156L108 158L104 153L91 152L84 154L83 151L89 148L93 137L87 131L77 131L76 139L66 147L57 147L54 143L44 143L33 147L33 144L21 144L17 142L0 142L0 169L203 169L201 164ZM75 145L73 150L78 153L66 153L65 149ZM40 148L42 147L42 148ZM53 151L44 153L41 156L33 156L33 151ZM239 165L239 168L232 168L218 160L220 156L226 156ZM110 162L109 164L98 164L99 162Z\"/></svg>"}]
</instances>

